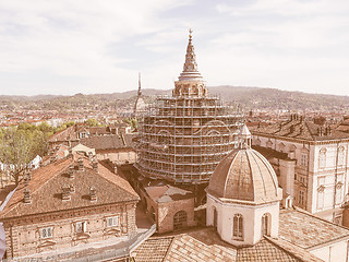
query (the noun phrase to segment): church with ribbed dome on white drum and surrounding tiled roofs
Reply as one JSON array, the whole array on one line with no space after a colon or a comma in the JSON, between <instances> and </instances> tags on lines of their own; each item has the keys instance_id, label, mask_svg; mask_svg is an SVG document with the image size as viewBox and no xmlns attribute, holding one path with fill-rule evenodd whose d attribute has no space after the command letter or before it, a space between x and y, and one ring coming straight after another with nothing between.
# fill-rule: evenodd
<instances>
[{"instance_id":1,"label":"church with ribbed dome on white drum and surrounding tiled roofs","mask_svg":"<svg viewBox=\"0 0 349 262\"><path fill-rule=\"evenodd\" d=\"M206 189L208 227L152 237L131 257L136 262L348 262L349 229L299 209L280 210L276 172L251 148L246 127L239 144Z\"/></svg>"}]
</instances>

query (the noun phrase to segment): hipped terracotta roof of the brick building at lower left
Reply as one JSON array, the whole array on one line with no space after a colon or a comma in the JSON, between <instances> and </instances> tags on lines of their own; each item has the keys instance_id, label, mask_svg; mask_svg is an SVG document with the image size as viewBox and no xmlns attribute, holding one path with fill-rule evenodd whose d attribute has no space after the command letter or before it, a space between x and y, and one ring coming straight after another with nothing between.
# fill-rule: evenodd
<instances>
[{"instance_id":1,"label":"hipped terracotta roof of the brick building at lower left","mask_svg":"<svg viewBox=\"0 0 349 262\"><path fill-rule=\"evenodd\" d=\"M56 212L93 205L111 204L122 201L139 201L139 195L128 181L98 164L98 172L84 158L83 171L74 169L74 178L69 177L69 167L76 164L71 156L32 171L28 186L23 182L4 207L0 218L10 218L46 212ZM70 201L62 201L62 186L73 186ZM89 199L89 189L95 187L97 201ZM23 202L24 190L29 189L32 203Z\"/></svg>"}]
</instances>

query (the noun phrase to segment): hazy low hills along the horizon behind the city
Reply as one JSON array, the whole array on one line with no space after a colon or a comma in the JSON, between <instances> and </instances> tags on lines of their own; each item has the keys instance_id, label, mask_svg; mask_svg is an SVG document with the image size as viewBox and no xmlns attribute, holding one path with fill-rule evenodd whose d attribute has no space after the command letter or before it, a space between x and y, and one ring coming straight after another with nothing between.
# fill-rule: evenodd
<instances>
[{"instance_id":1,"label":"hazy low hills along the horizon behind the city","mask_svg":"<svg viewBox=\"0 0 349 262\"><path fill-rule=\"evenodd\" d=\"M348 110L349 96L308 94L277 88L246 86L208 86L210 95L220 96L227 104L239 104L244 109L310 109L310 110ZM146 102L151 103L157 95L170 95L171 90L143 90ZM130 106L137 91L112 94L75 94L72 96L0 96L0 105L8 108L25 107L32 109L74 109L91 107L124 107Z\"/></svg>"}]
</instances>

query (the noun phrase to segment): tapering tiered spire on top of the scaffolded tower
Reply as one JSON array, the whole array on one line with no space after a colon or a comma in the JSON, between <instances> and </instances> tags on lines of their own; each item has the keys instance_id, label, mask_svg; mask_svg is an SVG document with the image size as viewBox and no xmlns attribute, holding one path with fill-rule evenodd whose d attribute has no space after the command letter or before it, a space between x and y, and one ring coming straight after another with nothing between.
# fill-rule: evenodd
<instances>
[{"instance_id":1,"label":"tapering tiered spire on top of the scaffolded tower","mask_svg":"<svg viewBox=\"0 0 349 262\"><path fill-rule=\"evenodd\" d=\"M196 56L194 52L194 46L192 44L192 29L189 29L189 43L186 47L186 55L185 55L185 62L183 66L183 72L181 75L178 78L180 81L197 81L197 80L203 80L203 76L201 76L200 72L197 71L197 63L196 63Z\"/></svg>"}]
</instances>

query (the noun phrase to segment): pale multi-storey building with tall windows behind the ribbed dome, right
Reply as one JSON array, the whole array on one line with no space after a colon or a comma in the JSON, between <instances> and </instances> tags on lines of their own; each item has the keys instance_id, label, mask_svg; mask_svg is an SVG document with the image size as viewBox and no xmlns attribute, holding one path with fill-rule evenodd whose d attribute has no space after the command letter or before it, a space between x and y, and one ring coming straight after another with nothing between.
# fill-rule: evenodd
<instances>
[{"instance_id":1,"label":"pale multi-storey building with tall windows behind the ribbed dome, right","mask_svg":"<svg viewBox=\"0 0 349 262\"><path fill-rule=\"evenodd\" d=\"M322 117L290 119L251 129L253 146L272 163L293 205L341 224L347 198L349 135Z\"/></svg>"}]
</instances>

